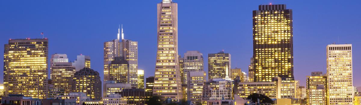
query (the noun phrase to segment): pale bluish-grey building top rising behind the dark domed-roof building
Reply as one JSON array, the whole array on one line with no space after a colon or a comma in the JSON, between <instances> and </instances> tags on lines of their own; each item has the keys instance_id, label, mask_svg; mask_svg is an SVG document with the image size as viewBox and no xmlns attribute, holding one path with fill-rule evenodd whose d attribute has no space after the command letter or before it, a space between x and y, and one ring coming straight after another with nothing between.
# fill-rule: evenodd
<instances>
[{"instance_id":1,"label":"pale bluish-grey building top rising behind the dark domed-roof building","mask_svg":"<svg viewBox=\"0 0 361 105\"><path fill-rule=\"evenodd\" d=\"M90 56L86 55L77 55L77 60L75 60L72 65L75 67L75 70L79 71L84 67L90 68Z\"/></svg>"}]
</instances>

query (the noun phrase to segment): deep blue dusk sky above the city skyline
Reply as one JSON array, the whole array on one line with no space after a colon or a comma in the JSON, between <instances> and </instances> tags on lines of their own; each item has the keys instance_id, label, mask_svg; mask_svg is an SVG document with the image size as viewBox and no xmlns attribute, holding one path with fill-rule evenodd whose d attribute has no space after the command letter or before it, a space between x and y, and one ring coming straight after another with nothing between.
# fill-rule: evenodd
<instances>
[{"instance_id":1,"label":"deep blue dusk sky above the city skyline","mask_svg":"<svg viewBox=\"0 0 361 105\"><path fill-rule=\"evenodd\" d=\"M353 45L354 86L361 86L360 0L173 0L178 3L179 55L198 50L224 50L232 68L248 73L252 57L252 10L260 4L286 4L293 10L294 75L305 86L311 72L326 72L326 45ZM117 37L123 24L125 38L139 42L139 69L154 76L157 26L161 0L1 0L0 44L10 38L49 38L54 53L91 56L91 68L103 80L103 42ZM3 51L4 46L0 46ZM3 53L1 53L3 55ZM1 56L0 59L3 59ZM50 59L50 58L49 58ZM0 63L3 67L3 63ZM0 74L3 78L3 72ZM3 82L1 79L0 82Z\"/></svg>"}]
</instances>

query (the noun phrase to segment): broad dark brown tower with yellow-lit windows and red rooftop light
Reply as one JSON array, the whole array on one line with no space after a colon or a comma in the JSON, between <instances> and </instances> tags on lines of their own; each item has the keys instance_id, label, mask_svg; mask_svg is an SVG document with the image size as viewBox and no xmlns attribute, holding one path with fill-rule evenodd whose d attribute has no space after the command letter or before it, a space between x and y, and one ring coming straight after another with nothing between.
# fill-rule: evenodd
<instances>
[{"instance_id":1,"label":"broad dark brown tower with yellow-lit windows and red rooftop light","mask_svg":"<svg viewBox=\"0 0 361 105\"><path fill-rule=\"evenodd\" d=\"M292 10L286 5L259 5L253 11L253 78L293 78Z\"/></svg>"}]
</instances>

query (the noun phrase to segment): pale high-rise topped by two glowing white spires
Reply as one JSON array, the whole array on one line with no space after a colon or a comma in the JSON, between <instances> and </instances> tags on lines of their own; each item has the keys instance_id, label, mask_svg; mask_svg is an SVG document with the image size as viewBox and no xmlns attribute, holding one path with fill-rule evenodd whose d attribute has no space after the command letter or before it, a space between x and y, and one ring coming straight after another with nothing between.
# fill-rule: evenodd
<instances>
[{"instance_id":1,"label":"pale high-rise topped by two glowing white spires","mask_svg":"<svg viewBox=\"0 0 361 105\"><path fill-rule=\"evenodd\" d=\"M120 31L121 29L121 31ZM120 33L121 32L121 33ZM121 39L120 39L121 38ZM121 41L121 42L119 42ZM137 80L137 70L138 70L138 42L124 39L123 26L118 28L118 37L117 39L104 42L104 81L116 81L110 75L116 74L117 70L111 72L109 69L110 63L115 60L116 57L123 57L127 61L128 67L128 77L135 78L130 79L130 82L133 83Z\"/></svg>"}]
</instances>

